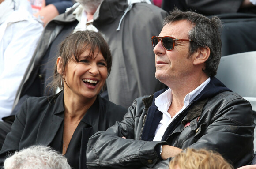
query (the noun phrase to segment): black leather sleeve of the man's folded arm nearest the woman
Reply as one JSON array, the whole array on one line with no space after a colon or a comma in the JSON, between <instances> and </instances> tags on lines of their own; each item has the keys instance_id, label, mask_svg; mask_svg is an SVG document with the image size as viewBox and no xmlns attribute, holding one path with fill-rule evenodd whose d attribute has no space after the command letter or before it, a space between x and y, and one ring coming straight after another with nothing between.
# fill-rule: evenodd
<instances>
[{"instance_id":1,"label":"black leather sleeve of the man's folded arm nearest the woman","mask_svg":"<svg viewBox=\"0 0 256 169\"><path fill-rule=\"evenodd\" d=\"M107 131L99 131L90 137L87 144L88 169L154 166L158 161L154 147L162 142L134 140L138 119L140 115L136 116L136 103L134 102L123 121L116 122ZM127 139L121 138L122 136Z\"/></svg>"}]
</instances>

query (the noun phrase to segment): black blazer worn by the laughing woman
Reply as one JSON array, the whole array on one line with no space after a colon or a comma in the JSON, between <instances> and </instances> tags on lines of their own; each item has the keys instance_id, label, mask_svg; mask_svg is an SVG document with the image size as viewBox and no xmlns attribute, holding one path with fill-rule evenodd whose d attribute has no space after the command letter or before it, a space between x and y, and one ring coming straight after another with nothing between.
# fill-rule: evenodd
<instances>
[{"instance_id":1,"label":"black blazer worn by the laughing woman","mask_svg":"<svg viewBox=\"0 0 256 169\"><path fill-rule=\"evenodd\" d=\"M8 152L22 150L30 145L46 145L53 141L63 118L58 116L64 112L64 92L55 94L50 97L30 97L27 98L21 110L15 116L15 121L12 124L11 131L6 136L2 150L0 151L0 161L3 165L4 159ZM82 128L82 140L80 148L79 169L86 169L86 147L88 139L97 131L105 131L110 126L113 126L116 121L121 121L127 109L122 106L97 97L98 105L93 113L83 118L86 128ZM70 145L69 145L70 146Z\"/></svg>"}]
</instances>

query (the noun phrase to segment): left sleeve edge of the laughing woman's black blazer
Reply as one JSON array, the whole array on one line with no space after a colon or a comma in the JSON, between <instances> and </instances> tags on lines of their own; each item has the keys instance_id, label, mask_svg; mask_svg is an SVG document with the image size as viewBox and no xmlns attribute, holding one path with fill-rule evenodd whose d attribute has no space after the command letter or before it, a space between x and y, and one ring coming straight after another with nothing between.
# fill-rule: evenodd
<instances>
[{"instance_id":1,"label":"left sleeve edge of the laughing woman's black blazer","mask_svg":"<svg viewBox=\"0 0 256 169\"><path fill-rule=\"evenodd\" d=\"M15 121L11 126L11 131L6 135L3 147L0 151L0 166L4 164L4 160L9 153L19 150L19 142L23 135L26 124L27 100L21 107L21 110L15 116Z\"/></svg>"}]
</instances>

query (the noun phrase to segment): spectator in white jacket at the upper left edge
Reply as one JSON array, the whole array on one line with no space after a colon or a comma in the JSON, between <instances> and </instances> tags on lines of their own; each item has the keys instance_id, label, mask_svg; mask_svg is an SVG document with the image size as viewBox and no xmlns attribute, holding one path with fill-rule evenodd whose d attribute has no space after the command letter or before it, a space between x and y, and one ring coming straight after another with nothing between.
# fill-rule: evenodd
<instances>
[{"instance_id":1,"label":"spectator in white jacket at the upper left edge","mask_svg":"<svg viewBox=\"0 0 256 169\"><path fill-rule=\"evenodd\" d=\"M0 120L11 113L42 30L27 0L0 2Z\"/></svg>"}]
</instances>

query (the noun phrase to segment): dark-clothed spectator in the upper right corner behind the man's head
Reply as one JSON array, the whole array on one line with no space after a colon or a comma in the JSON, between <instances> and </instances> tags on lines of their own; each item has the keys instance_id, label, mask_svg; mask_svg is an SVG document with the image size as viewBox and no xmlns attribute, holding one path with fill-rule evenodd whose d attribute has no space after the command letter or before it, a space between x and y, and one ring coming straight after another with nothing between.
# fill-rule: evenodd
<instances>
[{"instance_id":1,"label":"dark-clothed spectator in the upper right corner behind the man's head","mask_svg":"<svg viewBox=\"0 0 256 169\"><path fill-rule=\"evenodd\" d=\"M223 24L222 56L256 51L256 6L255 0L163 0L162 8L217 15Z\"/></svg>"}]
</instances>

